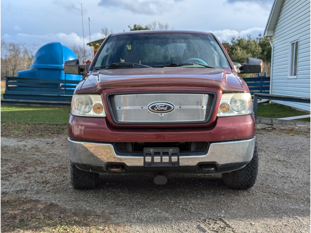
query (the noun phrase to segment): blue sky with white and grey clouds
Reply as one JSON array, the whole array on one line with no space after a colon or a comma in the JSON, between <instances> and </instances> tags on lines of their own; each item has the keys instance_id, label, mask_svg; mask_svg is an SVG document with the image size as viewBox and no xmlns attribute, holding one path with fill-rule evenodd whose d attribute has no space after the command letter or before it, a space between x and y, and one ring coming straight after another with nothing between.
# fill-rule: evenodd
<instances>
[{"instance_id":1,"label":"blue sky with white and grey clouds","mask_svg":"<svg viewBox=\"0 0 311 233\"><path fill-rule=\"evenodd\" d=\"M128 25L156 21L173 30L211 32L220 42L230 42L232 36L263 34L272 3L273 0L1 0L1 41L38 47L60 42L72 48L90 42L90 35L91 41L104 38L104 27L118 33L129 31Z\"/></svg>"}]
</instances>

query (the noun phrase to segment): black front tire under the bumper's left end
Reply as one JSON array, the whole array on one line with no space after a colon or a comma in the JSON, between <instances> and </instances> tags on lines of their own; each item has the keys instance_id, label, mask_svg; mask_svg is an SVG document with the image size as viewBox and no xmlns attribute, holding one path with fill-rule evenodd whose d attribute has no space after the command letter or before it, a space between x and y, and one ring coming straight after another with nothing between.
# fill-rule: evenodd
<instances>
[{"instance_id":1,"label":"black front tire under the bumper's left end","mask_svg":"<svg viewBox=\"0 0 311 233\"><path fill-rule=\"evenodd\" d=\"M75 189L95 189L99 183L99 174L83 171L70 161L71 184Z\"/></svg>"}]
</instances>

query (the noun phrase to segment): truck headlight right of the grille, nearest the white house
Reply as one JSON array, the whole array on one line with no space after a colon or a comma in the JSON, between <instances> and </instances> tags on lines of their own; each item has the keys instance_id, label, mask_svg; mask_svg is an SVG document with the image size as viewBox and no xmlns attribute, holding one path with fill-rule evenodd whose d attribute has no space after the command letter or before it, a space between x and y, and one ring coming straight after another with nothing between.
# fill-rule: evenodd
<instances>
[{"instance_id":1,"label":"truck headlight right of the grille, nearest the white house","mask_svg":"<svg viewBox=\"0 0 311 233\"><path fill-rule=\"evenodd\" d=\"M253 113L249 93L224 93L221 96L217 117L248 115Z\"/></svg>"}]
</instances>

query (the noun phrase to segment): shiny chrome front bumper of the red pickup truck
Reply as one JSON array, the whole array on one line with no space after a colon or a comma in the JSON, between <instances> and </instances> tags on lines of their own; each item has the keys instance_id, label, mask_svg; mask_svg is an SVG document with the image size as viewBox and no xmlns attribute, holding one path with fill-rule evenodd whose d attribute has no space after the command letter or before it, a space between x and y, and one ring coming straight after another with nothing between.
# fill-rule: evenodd
<instances>
[{"instance_id":1,"label":"shiny chrome front bumper of the red pickup truck","mask_svg":"<svg viewBox=\"0 0 311 233\"><path fill-rule=\"evenodd\" d=\"M202 162L216 162L219 165L250 161L253 158L255 138L211 143L206 154L180 155L179 166L196 166ZM126 166L144 166L144 157L121 156L112 144L75 141L68 138L72 162L105 166L106 163L124 163Z\"/></svg>"}]
</instances>

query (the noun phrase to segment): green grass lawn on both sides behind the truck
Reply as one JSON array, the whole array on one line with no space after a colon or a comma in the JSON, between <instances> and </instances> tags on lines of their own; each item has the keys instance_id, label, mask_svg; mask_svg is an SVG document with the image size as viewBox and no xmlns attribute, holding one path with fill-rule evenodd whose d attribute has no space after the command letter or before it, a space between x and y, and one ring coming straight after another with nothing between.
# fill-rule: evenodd
<instances>
[{"instance_id":1,"label":"green grass lawn on both sides behind the truck","mask_svg":"<svg viewBox=\"0 0 311 233\"><path fill-rule=\"evenodd\" d=\"M1 105L1 136L67 135L69 107ZM292 117L307 113L279 104L259 104L258 117ZM299 119L310 121L309 118Z\"/></svg>"}]
</instances>

